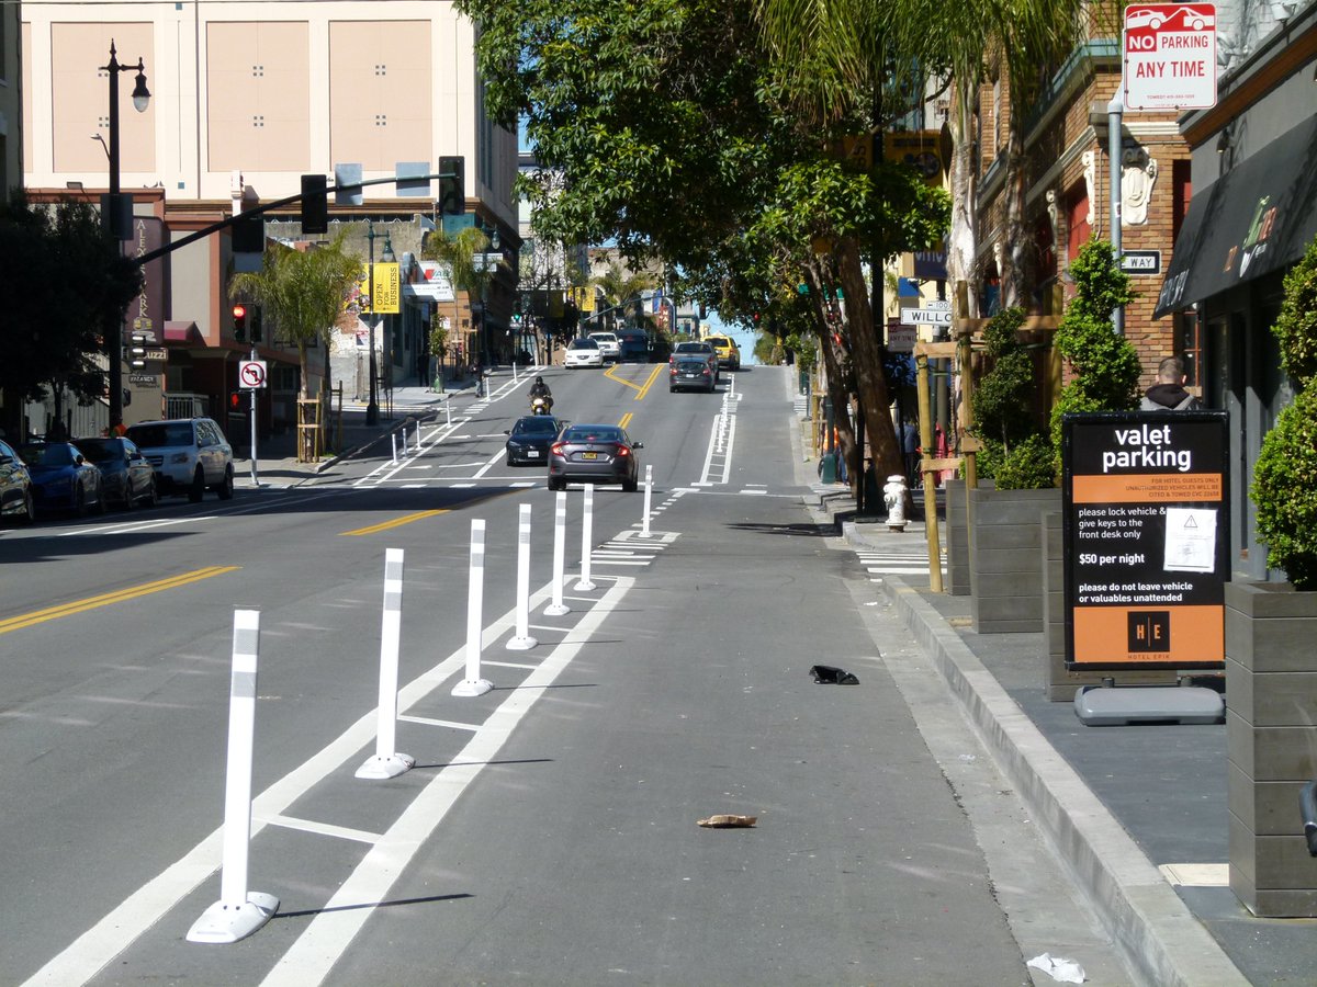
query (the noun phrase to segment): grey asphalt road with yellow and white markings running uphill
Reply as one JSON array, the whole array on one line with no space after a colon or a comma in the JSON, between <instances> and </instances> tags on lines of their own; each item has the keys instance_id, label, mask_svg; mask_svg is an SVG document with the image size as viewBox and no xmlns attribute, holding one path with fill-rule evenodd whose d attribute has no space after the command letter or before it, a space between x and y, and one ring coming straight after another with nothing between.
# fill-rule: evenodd
<instances>
[{"instance_id":1,"label":"grey asphalt road with yellow and white markings running uphill","mask_svg":"<svg viewBox=\"0 0 1317 987\"><path fill-rule=\"evenodd\" d=\"M502 462L528 382L421 449L294 490L0 529L0 983L1029 983L1101 954L1008 786L802 495L790 371L669 395L547 374L652 466L599 488L593 588L545 616L556 495ZM532 505L529 634L518 517ZM481 675L470 538L486 522ZM399 751L375 751L386 549L403 549ZM233 613L259 612L246 887L220 900ZM815 686L842 666L857 687ZM710 829L715 813L757 817ZM232 876L227 875L227 876ZM1094 975L1096 973L1096 975ZM1090 982L1118 983L1101 963ZM1050 982L1046 978L1042 982Z\"/></svg>"}]
</instances>

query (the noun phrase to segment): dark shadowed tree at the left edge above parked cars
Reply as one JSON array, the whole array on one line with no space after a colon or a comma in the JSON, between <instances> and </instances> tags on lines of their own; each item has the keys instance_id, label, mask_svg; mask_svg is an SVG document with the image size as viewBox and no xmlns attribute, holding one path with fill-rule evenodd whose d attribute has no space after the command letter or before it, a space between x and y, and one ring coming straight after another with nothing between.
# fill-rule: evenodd
<instances>
[{"instance_id":1,"label":"dark shadowed tree at the left edge above parked cars","mask_svg":"<svg viewBox=\"0 0 1317 987\"><path fill-rule=\"evenodd\" d=\"M0 205L0 265L21 286L0 324L3 425L20 434L21 403L47 390L57 401L65 388L87 403L104 399L105 326L122 324L142 274L90 204L32 205L21 193Z\"/></svg>"}]
</instances>

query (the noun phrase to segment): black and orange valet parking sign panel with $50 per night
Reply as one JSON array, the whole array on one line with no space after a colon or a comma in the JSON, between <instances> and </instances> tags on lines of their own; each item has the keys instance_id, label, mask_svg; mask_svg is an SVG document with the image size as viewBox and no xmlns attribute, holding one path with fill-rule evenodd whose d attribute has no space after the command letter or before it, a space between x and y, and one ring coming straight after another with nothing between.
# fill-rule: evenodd
<instances>
[{"instance_id":1,"label":"black and orange valet parking sign panel with $50 per night","mask_svg":"<svg viewBox=\"0 0 1317 987\"><path fill-rule=\"evenodd\" d=\"M1065 667L1220 669L1225 412L1067 415Z\"/></svg>"}]
</instances>

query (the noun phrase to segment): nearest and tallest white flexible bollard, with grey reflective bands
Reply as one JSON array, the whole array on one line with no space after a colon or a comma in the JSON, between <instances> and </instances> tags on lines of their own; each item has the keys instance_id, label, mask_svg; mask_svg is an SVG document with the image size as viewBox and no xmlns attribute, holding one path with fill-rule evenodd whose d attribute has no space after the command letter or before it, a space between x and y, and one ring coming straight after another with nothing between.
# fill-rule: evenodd
<instances>
[{"instance_id":1,"label":"nearest and tallest white flexible bollard, with grey reflective bands","mask_svg":"<svg viewBox=\"0 0 1317 987\"><path fill-rule=\"evenodd\" d=\"M252 845L252 758L255 751L255 670L261 612L233 611L233 671L229 678L229 749L224 782L224 858L220 900L187 930L188 942L237 942L279 911L279 899L248 891Z\"/></svg>"}]
</instances>

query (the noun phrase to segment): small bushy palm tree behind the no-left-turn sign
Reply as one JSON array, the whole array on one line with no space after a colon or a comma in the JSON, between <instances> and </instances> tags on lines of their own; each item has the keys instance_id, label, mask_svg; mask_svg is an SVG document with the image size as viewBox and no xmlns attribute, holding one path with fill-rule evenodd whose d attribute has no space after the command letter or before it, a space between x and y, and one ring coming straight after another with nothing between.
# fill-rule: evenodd
<instances>
[{"instance_id":1,"label":"small bushy palm tree behind the no-left-turn sign","mask_svg":"<svg viewBox=\"0 0 1317 987\"><path fill-rule=\"evenodd\" d=\"M245 297L261 305L266 332L273 333L277 326L296 343L302 378L298 396L303 400L311 396L308 347L319 340L328 351L329 330L361 272L361 261L344 253L346 236L348 230L340 230L328 246L267 246L259 271L236 274L229 282L229 297ZM299 437L298 457L311 459L313 436L299 429Z\"/></svg>"}]
</instances>

